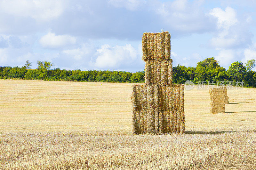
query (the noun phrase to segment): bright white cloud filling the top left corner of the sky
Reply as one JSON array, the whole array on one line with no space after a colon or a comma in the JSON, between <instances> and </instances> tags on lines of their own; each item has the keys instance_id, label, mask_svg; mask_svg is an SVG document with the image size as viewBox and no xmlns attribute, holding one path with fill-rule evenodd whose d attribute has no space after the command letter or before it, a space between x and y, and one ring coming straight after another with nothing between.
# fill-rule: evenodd
<instances>
[{"instance_id":1,"label":"bright white cloud filling the top left corner of the sky","mask_svg":"<svg viewBox=\"0 0 256 170\"><path fill-rule=\"evenodd\" d=\"M58 18L64 11L64 4L61 0L4 0L0 1L0 11L17 17L47 21Z\"/></svg>"}]
</instances>

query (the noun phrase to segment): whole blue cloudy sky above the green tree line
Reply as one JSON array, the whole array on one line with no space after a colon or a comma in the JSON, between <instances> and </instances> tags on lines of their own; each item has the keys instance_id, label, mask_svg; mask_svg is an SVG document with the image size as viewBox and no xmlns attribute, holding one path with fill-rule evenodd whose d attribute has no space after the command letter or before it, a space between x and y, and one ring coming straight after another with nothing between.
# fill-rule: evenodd
<instances>
[{"instance_id":1,"label":"whole blue cloudy sky above the green tree line","mask_svg":"<svg viewBox=\"0 0 256 170\"><path fill-rule=\"evenodd\" d=\"M256 59L256 1L0 0L0 66L142 71L143 32L171 33L173 66Z\"/></svg>"}]
</instances>

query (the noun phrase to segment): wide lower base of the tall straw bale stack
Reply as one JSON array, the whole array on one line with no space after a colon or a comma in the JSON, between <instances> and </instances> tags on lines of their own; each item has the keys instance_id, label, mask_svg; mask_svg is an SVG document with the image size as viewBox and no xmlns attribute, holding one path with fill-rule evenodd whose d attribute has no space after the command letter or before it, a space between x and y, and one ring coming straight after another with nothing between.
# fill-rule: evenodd
<instances>
[{"instance_id":1,"label":"wide lower base of the tall straw bale stack","mask_svg":"<svg viewBox=\"0 0 256 170\"><path fill-rule=\"evenodd\" d=\"M183 85L133 85L132 103L135 134L184 133Z\"/></svg>"}]
</instances>

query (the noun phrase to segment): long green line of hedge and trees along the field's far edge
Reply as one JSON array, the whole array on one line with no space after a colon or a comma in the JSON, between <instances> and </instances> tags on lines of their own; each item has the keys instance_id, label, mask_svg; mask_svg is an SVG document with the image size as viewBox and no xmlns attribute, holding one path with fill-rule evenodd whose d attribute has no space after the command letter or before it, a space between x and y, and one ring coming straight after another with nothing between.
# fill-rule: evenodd
<instances>
[{"instance_id":1,"label":"long green line of hedge and trees along the field's far edge","mask_svg":"<svg viewBox=\"0 0 256 170\"><path fill-rule=\"evenodd\" d=\"M27 61L23 67L0 67L0 79L51 80L51 81L90 81L90 82L133 82L144 83L144 71L130 73L125 71L97 71L51 69L52 63L37 61L37 68L31 69ZM221 67L214 57L197 63L196 67L178 65L173 67L173 83L184 84L187 80L194 83L244 82L245 87L256 87L255 60L234 62L228 70Z\"/></svg>"}]
</instances>

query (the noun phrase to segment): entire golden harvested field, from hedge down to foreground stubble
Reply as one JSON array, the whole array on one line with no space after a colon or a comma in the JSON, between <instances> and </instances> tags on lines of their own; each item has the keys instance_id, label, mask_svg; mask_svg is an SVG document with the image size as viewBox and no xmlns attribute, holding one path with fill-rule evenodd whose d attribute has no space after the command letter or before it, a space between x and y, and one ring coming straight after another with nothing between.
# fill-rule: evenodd
<instances>
[{"instance_id":1,"label":"entire golden harvested field, from hedge down to foreground stubble","mask_svg":"<svg viewBox=\"0 0 256 170\"><path fill-rule=\"evenodd\" d=\"M130 83L0 80L0 169L256 169L256 89L185 90L185 134L132 135Z\"/></svg>"}]
</instances>

